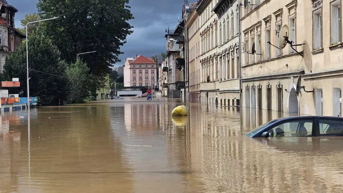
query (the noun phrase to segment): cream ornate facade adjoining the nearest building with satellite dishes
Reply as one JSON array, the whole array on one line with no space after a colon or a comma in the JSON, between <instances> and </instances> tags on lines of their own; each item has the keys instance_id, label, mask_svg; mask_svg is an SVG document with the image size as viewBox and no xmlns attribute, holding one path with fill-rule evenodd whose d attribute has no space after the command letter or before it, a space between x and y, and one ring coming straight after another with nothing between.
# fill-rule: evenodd
<instances>
[{"instance_id":1,"label":"cream ornate facade adjoining the nearest building with satellite dishes","mask_svg":"<svg viewBox=\"0 0 343 193\"><path fill-rule=\"evenodd\" d=\"M203 0L197 9L202 103L239 105L239 20L235 4L233 0Z\"/></svg>"}]
</instances>

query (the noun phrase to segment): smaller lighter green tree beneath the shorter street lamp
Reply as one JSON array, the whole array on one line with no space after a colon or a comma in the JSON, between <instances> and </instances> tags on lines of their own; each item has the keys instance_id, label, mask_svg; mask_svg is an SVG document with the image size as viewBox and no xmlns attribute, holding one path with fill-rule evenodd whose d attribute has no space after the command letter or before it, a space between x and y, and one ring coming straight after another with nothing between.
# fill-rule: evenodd
<instances>
[{"instance_id":1,"label":"smaller lighter green tree beneath the shorter street lamp","mask_svg":"<svg viewBox=\"0 0 343 193\"><path fill-rule=\"evenodd\" d=\"M67 77L70 77L69 103L84 103L90 97L89 89L92 82L89 68L81 60L77 60L67 69Z\"/></svg>"}]
</instances>

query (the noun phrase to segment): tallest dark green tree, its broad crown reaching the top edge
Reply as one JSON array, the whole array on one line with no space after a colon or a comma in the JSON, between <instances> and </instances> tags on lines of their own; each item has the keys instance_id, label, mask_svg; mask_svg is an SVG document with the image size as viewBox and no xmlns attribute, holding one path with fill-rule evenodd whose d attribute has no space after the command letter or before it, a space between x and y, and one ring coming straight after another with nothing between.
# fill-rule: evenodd
<instances>
[{"instance_id":1,"label":"tallest dark green tree, its broad crown reaching the top edge","mask_svg":"<svg viewBox=\"0 0 343 193\"><path fill-rule=\"evenodd\" d=\"M129 0L39 0L42 19L61 16L44 22L44 32L61 50L61 58L74 63L80 56L94 75L104 76L109 67L120 61L120 46L133 31L128 23L133 19Z\"/></svg>"}]
</instances>

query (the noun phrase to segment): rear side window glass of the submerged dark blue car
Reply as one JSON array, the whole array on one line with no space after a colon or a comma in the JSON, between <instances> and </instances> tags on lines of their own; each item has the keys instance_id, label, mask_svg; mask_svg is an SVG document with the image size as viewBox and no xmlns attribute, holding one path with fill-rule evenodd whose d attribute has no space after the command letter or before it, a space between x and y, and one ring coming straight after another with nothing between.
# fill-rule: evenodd
<instances>
[{"instance_id":1,"label":"rear side window glass of the submerged dark blue car","mask_svg":"<svg viewBox=\"0 0 343 193\"><path fill-rule=\"evenodd\" d=\"M319 120L320 135L341 135L343 132L343 121Z\"/></svg>"}]
</instances>

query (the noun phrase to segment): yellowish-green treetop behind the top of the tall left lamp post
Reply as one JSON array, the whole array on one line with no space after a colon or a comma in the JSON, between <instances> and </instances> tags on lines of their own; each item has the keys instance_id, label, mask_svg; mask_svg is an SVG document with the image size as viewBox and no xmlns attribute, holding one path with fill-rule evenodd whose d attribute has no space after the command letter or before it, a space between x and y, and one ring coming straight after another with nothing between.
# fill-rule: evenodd
<instances>
[{"instance_id":1,"label":"yellowish-green treetop behind the top of the tall left lamp post","mask_svg":"<svg viewBox=\"0 0 343 193\"><path fill-rule=\"evenodd\" d=\"M25 18L20 20L23 27L18 28L18 30L23 34L26 34L26 24L28 22L34 22L34 21L38 21L38 20L40 20L38 13L26 14ZM40 32L41 29L42 29L42 25L40 25L40 23L29 24L27 26L27 34L28 34L28 36L31 36L33 34Z\"/></svg>"}]
</instances>

